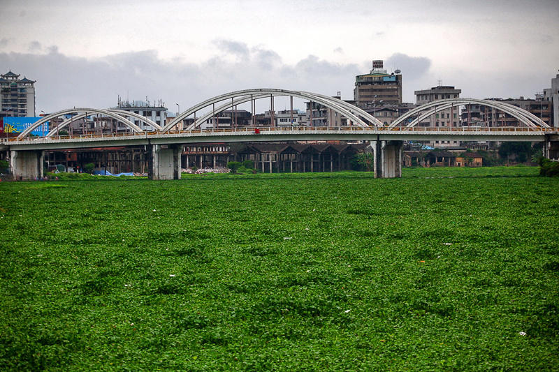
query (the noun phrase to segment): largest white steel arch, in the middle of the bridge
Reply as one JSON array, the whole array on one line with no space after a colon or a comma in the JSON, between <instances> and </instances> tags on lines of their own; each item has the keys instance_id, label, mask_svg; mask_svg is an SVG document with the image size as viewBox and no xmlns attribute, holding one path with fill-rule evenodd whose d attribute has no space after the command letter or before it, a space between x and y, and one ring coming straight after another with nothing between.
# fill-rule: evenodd
<instances>
[{"instance_id":1,"label":"largest white steel arch, in the middle of the bridge","mask_svg":"<svg viewBox=\"0 0 559 372\"><path fill-rule=\"evenodd\" d=\"M162 131L169 131L170 128L173 128L173 126L177 125L180 123L180 121L182 121L182 119L189 117L189 115L194 114L194 112L200 110L203 107L208 107L209 105L213 105L215 103L224 101L228 98L235 98L238 96L249 96L249 95L271 95L271 96L293 96L293 97L298 97L298 98L303 98L303 99L308 99L310 101L314 101L317 103L321 103L322 105L331 108L332 110L334 110L335 112L338 112L340 114L343 114L345 117L347 117L348 119L350 119L351 121L354 121L358 126L362 126L362 127L368 127L368 124L365 123L365 121L363 121L363 119L360 119L356 116L356 114L354 114L353 112L351 112L350 110L348 110L347 107L347 103L344 103L343 105L340 104L343 101L341 100L337 100L335 98L332 97L328 97L328 98L324 98L324 96L318 96L315 94L310 94L307 92L303 92L303 91L289 91L286 89L245 89L242 91L233 91L233 92L229 92L226 94L222 94L220 96L215 96L212 98L209 98L201 103L198 103L197 105L194 105L192 107L190 107L188 110L182 112L182 114L180 114L179 116L177 116L177 118L173 121L171 121L169 124L167 124L166 126L164 126L164 128L162 128ZM226 107L230 106L226 105ZM356 107L354 107L354 109L356 109ZM367 114L365 112L365 114ZM379 120L375 119L374 117L372 117L372 115L367 114L368 117L367 119L372 118L373 123L377 124L377 125L382 125L382 123L380 123ZM365 115L363 115L365 116ZM366 116L365 116L366 117ZM369 118L370 117L370 118Z\"/></svg>"}]
</instances>

